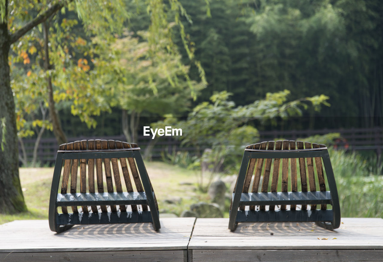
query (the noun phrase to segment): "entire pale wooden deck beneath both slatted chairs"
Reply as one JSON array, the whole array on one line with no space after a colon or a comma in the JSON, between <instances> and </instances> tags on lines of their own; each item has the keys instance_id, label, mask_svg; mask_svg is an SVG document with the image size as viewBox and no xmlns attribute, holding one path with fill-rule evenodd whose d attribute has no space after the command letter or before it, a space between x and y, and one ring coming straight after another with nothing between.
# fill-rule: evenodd
<instances>
[{"instance_id":1,"label":"entire pale wooden deck beneath both slatted chairs","mask_svg":"<svg viewBox=\"0 0 383 262\"><path fill-rule=\"evenodd\" d=\"M75 226L46 220L0 225L0 261L383 261L383 219L342 218L336 231L314 223L240 223L162 218L152 225ZM193 228L194 226L194 228Z\"/></svg>"}]
</instances>

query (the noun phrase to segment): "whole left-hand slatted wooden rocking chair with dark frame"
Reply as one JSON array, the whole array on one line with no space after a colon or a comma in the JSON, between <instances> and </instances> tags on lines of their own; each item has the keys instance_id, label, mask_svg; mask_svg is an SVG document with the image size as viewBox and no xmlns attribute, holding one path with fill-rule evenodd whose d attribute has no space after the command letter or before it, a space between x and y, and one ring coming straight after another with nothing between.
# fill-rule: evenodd
<instances>
[{"instance_id":1,"label":"whole left-hand slatted wooden rocking chair with dark frame","mask_svg":"<svg viewBox=\"0 0 383 262\"><path fill-rule=\"evenodd\" d=\"M120 172L126 192L123 192ZM107 192L104 192L105 183ZM68 186L70 193L67 192ZM72 213L68 213L68 206L72 207ZM61 207L61 213L58 207ZM153 223L155 230L160 228L157 201L137 144L82 140L59 146L49 201L49 227L52 231L60 233L75 224L141 222Z\"/></svg>"}]
</instances>

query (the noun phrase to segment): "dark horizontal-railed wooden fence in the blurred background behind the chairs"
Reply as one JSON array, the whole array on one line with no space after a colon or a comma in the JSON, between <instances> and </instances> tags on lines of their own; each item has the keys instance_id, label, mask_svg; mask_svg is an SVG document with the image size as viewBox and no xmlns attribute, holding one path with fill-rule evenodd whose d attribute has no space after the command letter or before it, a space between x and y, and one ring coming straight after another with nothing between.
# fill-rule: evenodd
<instances>
[{"instance_id":1,"label":"dark horizontal-railed wooden fence in the blurred background behind the chairs","mask_svg":"<svg viewBox=\"0 0 383 262\"><path fill-rule=\"evenodd\" d=\"M260 131L260 141L273 140L275 138L283 138L288 140L296 140L297 138L305 138L313 135L323 135L328 133L340 133L343 138L335 143L338 148L345 148L349 150L374 150L378 157L381 155L383 149L383 128L352 128L352 129L321 129L321 130L286 130L286 131ZM77 137L68 138L69 142L74 142L82 139L113 139L125 141L124 136L106 136L106 137ZM150 136L139 136L139 146L145 149L150 141ZM254 141L257 142L257 141ZM31 161L33 157L33 147L35 139L23 139L27 161ZM53 164L56 159L56 152L58 146L55 138L41 139L38 147L37 161L41 164ZM180 147L180 141L168 138L161 138L152 149L151 156L159 158L161 151L168 151L169 153L174 150L184 150L192 152L195 150L193 147ZM21 147L19 145L19 151Z\"/></svg>"}]
</instances>

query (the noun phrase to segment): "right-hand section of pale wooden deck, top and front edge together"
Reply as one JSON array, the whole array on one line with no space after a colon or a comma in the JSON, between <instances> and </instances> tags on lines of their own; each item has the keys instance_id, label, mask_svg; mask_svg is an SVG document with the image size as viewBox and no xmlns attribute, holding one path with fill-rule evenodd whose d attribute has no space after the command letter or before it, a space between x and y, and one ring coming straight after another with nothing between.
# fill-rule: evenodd
<instances>
[{"instance_id":1,"label":"right-hand section of pale wooden deck, top and front edge together","mask_svg":"<svg viewBox=\"0 0 383 262\"><path fill-rule=\"evenodd\" d=\"M335 231L314 223L239 223L231 232L228 223L198 218L188 261L383 261L381 218L342 218Z\"/></svg>"}]
</instances>

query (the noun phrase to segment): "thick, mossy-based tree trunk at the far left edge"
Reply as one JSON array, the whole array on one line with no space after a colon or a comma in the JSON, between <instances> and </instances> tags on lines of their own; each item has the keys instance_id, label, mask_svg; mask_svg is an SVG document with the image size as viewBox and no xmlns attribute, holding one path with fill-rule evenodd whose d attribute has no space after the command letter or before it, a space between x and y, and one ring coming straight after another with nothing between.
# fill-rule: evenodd
<instances>
[{"instance_id":1,"label":"thick, mossy-based tree trunk at the far left edge","mask_svg":"<svg viewBox=\"0 0 383 262\"><path fill-rule=\"evenodd\" d=\"M5 8L7 6L8 1L5 1ZM5 12L7 13L7 10ZM3 150L0 147L0 213L17 213L27 210L19 178L15 102L8 64L9 48L10 36L6 17L4 22L0 21L0 94L2 95L0 119L5 118L6 129ZM2 133L1 128L0 133Z\"/></svg>"}]
</instances>

